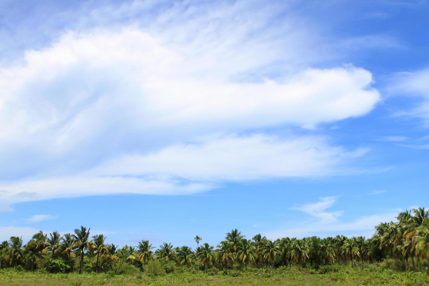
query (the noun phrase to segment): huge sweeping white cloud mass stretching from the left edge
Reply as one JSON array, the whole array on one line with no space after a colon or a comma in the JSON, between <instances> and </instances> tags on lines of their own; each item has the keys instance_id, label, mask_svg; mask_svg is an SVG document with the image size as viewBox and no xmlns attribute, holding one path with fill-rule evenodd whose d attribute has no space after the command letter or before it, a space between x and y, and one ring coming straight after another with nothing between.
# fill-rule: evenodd
<instances>
[{"instance_id":1,"label":"huge sweeping white cloud mass stretching from the left edge","mask_svg":"<svg viewBox=\"0 0 429 286\"><path fill-rule=\"evenodd\" d=\"M371 111L371 72L311 68L310 29L268 29L275 7L244 4L69 31L0 68L2 199L189 194L347 171L365 149L302 134ZM301 132L267 131L289 127Z\"/></svg>"}]
</instances>

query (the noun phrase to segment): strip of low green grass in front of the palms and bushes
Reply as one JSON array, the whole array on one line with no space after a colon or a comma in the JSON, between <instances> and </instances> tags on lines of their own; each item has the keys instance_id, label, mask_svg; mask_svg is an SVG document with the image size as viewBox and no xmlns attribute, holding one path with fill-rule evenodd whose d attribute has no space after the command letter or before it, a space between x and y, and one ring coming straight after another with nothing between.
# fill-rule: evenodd
<instances>
[{"instance_id":1,"label":"strip of low green grass in front of the palms and bushes","mask_svg":"<svg viewBox=\"0 0 429 286\"><path fill-rule=\"evenodd\" d=\"M332 272L299 269L276 270L177 271L163 276L142 274L114 275L85 273L49 274L42 271L0 271L0 285L429 285L429 275L396 272L377 265L339 266Z\"/></svg>"}]
</instances>

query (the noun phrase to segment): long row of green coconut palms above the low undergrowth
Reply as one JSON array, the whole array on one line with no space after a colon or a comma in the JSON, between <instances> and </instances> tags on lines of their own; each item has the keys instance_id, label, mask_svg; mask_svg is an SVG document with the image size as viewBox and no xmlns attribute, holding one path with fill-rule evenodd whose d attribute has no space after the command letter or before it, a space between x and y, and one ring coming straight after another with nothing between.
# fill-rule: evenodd
<instances>
[{"instance_id":1,"label":"long row of green coconut palms above the low undergrowth","mask_svg":"<svg viewBox=\"0 0 429 286\"><path fill-rule=\"evenodd\" d=\"M60 236L58 232L36 233L23 245L22 238L11 237L0 244L0 269L3 262L8 267L19 264L43 268L46 256L52 259L79 260L79 273L83 272L84 256L95 260L95 271L100 270L100 260L108 262L109 268L114 261L126 262L136 266L147 265L151 260L175 263L190 267L211 265L229 268L234 264L242 267L270 267L309 264L312 267L331 264L348 264L380 261L385 258L402 260L407 267L415 270L415 263L421 271L426 264L429 272L429 211L424 208L401 212L397 222L380 223L375 227L375 235L366 239L363 236L347 238L344 235L317 238L315 236L296 239L281 238L275 241L257 234L251 240L246 239L237 229L226 234L216 248L208 243L201 246L202 238L195 237L195 250L187 246L173 247L163 243L157 250L147 240L136 247L125 245L121 249L114 244L106 244L104 235L90 237L90 229L81 226L73 234Z\"/></svg>"}]
</instances>

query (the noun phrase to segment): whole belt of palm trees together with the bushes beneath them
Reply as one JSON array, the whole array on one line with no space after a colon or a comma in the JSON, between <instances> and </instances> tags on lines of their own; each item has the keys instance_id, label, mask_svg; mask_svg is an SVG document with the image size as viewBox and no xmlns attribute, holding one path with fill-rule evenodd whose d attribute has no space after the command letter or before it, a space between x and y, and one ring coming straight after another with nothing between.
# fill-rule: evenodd
<instances>
[{"instance_id":1,"label":"whole belt of palm trees together with the bushes beneath them","mask_svg":"<svg viewBox=\"0 0 429 286\"><path fill-rule=\"evenodd\" d=\"M401 212L397 219L398 222L380 223L375 227L375 235L369 239L337 235L322 239L313 236L270 241L257 234L249 240L233 229L216 247L200 244L202 238L197 235L195 250L188 246L174 247L169 243L163 243L154 250L155 247L147 240L140 241L135 247L125 245L118 248L114 244L106 244L102 234L91 237L90 229L83 226L75 229L73 234L63 236L58 232L47 235L40 231L26 245L18 236L3 241L0 245L0 269L9 268L13 273L37 270L46 275L79 272L97 278L97 273L112 277L115 274L153 277L173 272L200 273L201 277L218 273L228 276L251 273L262 277L267 273L271 273L269 276L283 273L282 277L286 277L287 271L303 276L314 273L332 275L344 269L350 273L378 267L408 271L407 275L424 275L427 278L427 274L419 272L429 273L429 211L413 209ZM0 270L2 275L7 273L12 275L10 271ZM370 271L364 273L369 275ZM387 276L390 277L390 273ZM329 277L330 281L332 279Z\"/></svg>"}]
</instances>

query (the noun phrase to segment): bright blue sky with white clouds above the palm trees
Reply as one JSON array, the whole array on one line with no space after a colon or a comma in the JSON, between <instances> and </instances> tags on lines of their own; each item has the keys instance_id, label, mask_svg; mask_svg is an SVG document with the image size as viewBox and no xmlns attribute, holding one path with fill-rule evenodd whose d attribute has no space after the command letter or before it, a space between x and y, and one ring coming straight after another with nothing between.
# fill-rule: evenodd
<instances>
[{"instance_id":1,"label":"bright blue sky with white clouds above the palm trees","mask_svg":"<svg viewBox=\"0 0 429 286\"><path fill-rule=\"evenodd\" d=\"M0 2L0 240L374 233L429 207L428 1Z\"/></svg>"}]
</instances>

